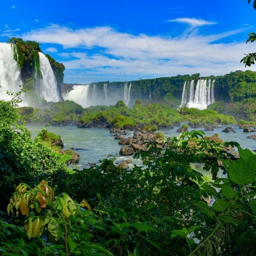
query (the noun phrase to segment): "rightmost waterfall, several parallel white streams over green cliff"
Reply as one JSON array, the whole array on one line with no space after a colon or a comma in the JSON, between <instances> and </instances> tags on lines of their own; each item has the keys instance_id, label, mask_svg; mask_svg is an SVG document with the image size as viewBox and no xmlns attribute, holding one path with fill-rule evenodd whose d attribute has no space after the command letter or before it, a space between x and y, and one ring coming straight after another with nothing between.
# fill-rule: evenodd
<instances>
[{"instance_id":1,"label":"rightmost waterfall, several parallel white streams over green cliff","mask_svg":"<svg viewBox=\"0 0 256 256\"><path fill-rule=\"evenodd\" d=\"M182 91L182 101L180 108L195 107L206 109L208 105L214 103L214 82L215 80L198 80L194 88L194 80L186 81Z\"/></svg>"}]
</instances>

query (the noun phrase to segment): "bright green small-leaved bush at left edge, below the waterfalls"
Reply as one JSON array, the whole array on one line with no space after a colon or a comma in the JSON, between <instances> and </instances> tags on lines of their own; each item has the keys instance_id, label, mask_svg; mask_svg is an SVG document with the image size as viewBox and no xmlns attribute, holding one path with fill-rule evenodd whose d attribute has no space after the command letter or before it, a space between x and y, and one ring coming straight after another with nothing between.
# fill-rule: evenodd
<instances>
[{"instance_id":1,"label":"bright green small-leaved bush at left edge, below the waterfalls","mask_svg":"<svg viewBox=\"0 0 256 256\"><path fill-rule=\"evenodd\" d=\"M17 184L26 182L33 186L42 177L55 183L60 178L55 174L70 172L65 164L66 157L47 145L33 143L31 133L18 124L23 118L16 107L24 90L10 92L11 101L0 101L0 188L4 191L0 193L0 211L5 209Z\"/></svg>"}]
</instances>

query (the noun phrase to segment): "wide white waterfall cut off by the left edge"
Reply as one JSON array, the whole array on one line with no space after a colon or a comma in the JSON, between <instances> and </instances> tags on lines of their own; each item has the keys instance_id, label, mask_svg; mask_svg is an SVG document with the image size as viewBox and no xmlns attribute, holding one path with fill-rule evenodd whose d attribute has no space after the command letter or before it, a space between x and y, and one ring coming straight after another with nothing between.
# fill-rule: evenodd
<instances>
[{"instance_id":1,"label":"wide white waterfall cut off by the left edge","mask_svg":"<svg viewBox=\"0 0 256 256\"><path fill-rule=\"evenodd\" d=\"M14 59L17 47L11 43L0 43L0 100L11 100L12 96L6 91L17 92L20 90L21 71Z\"/></svg>"}]
</instances>

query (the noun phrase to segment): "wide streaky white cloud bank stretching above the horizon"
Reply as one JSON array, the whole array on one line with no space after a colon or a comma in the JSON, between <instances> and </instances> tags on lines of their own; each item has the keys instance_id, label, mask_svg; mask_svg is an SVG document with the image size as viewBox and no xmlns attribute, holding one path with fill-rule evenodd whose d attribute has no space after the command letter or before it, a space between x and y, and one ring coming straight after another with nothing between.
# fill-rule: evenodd
<instances>
[{"instance_id":1,"label":"wide streaky white cloud bank stretching above the horizon","mask_svg":"<svg viewBox=\"0 0 256 256\"><path fill-rule=\"evenodd\" d=\"M77 74L89 83L193 73L223 75L243 70L240 60L245 52L254 52L255 45L234 41L214 43L241 31L207 36L190 33L173 38L135 36L107 26L74 30L52 24L21 37L62 45L64 50L57 61L64 63L65 76Z\"/></svg>"}]
</instances>

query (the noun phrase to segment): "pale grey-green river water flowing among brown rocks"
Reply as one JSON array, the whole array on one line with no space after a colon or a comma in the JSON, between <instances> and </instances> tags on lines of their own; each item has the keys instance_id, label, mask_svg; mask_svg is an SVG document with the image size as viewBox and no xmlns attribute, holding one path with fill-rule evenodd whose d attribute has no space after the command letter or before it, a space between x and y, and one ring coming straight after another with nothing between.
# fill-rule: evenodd
<instances>
[{"instance_id":1,"label":"pale grey-green river water flowing among brown rocks","mask_svg":"<svg viewBox=\"0 0 256 256\"><path fill-rule=\"evenodd\" d=\"M243 129L237 126L231 126L235 129L235 133L222 132L225 128L215 128L214 131L205 131L207 136L212 136L215 133L219 134L219 138L224 141L236 141L240 144L241 148L256 149L256 140L246 138L251 133L243 132ZM42 129L42 126L27 126L31 131L32 138L34 139L38 132ZM115 140L112 133L109 133L108 129L97 128L76 128L72 126L64 127L48 127L48 131L54 132L57 135L61 135L64 143L64 149L76 148L80 155L80 161L77 164L78 168L87 167L89 163L99 163L99 160L107 158L108 155L115 156L115 162L121 162L123 160L132 159L132 163L129 164L132 167L134 164L141 165L140 160L134 160L132 156L121 156L119 150L121 145L118 144L118 140ZM177 127L174 129L160 130L165 136L173 137L179 133L176 132ZM189 128L192 130L192 128ZM203 128L201 128L203 130ZM133 131L128 131L126 137L132 137Z\"/></svg>"}]
</instances>

